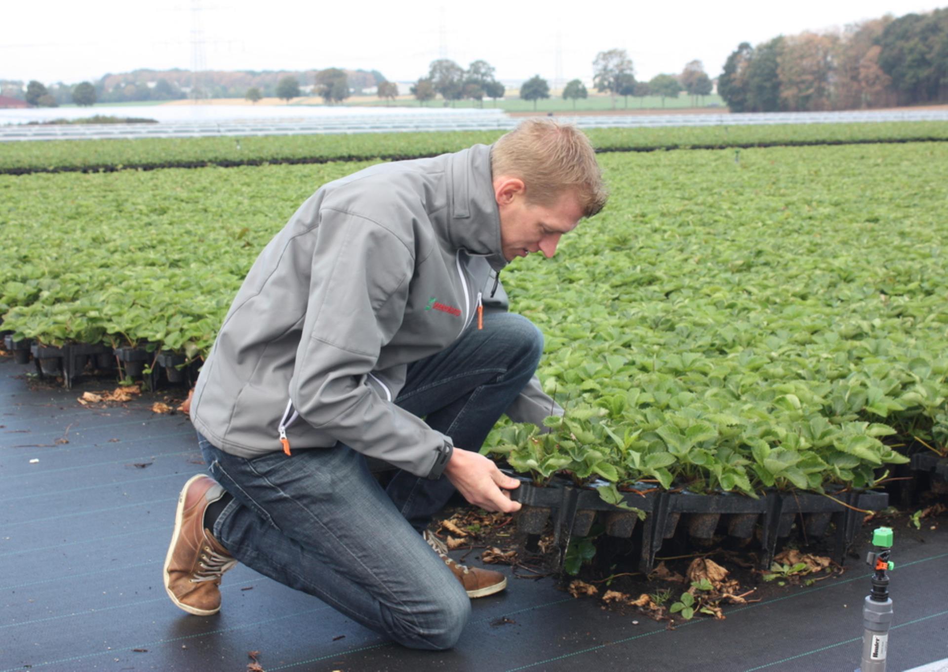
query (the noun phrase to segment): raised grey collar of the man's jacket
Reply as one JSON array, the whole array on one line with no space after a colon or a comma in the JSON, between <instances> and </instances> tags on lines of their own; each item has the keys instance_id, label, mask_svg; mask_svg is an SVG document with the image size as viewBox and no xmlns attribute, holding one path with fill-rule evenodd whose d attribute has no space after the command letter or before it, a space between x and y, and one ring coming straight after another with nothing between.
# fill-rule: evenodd
<instances>
[{"instance_id":1,"label":"raised grey collar of the man's jacket","mask_svg":"<svg viewBox=\"0 0 948 672\"><path fill-rule=\"evenodd\" d=\"M474 145L449 154L447 239L457 249L485 257L495 271L500 271L507 261L503 258L501 213L494 197L490 151L488 145Z\"/></svg>"}]
</instances>

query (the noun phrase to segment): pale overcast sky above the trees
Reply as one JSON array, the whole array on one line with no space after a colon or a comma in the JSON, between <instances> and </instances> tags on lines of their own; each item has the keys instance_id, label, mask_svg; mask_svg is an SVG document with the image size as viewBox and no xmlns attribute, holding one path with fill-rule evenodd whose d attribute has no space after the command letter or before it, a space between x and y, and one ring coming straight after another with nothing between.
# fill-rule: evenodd
<instances>
[{"instance_id":1,"label":"pale overcast sky above the trees","mask_svg":"<svg viewBox=\"0 0 948 672\"><path fill-rule=\"evenodd\" d=\"M211 70L335 66L413 81L447 56L465 67L484 59L501 80L539 74L553 83L591 78L596 53L618 47L628 50L642 80L681 72L693 59L717 77L740 42L757 45L781 33L842 28L944 4L598 0L541 9L514 0L8 0L0 80L75 83L142 67L191 69L195 36L203 37L204 67Z\"/></svg>"}]
</instances>

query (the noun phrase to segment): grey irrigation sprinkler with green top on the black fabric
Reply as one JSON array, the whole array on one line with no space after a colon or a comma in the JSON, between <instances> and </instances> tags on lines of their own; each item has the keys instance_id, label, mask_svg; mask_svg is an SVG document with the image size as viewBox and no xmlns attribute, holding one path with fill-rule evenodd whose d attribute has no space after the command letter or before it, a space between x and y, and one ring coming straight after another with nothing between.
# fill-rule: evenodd
<instances>
[{"instance_id":1,"label":"grey irrigation sprinkler with green top on the black fabric","mask_svg":"<svg viewBox=\"0 0 948 672\"><path fill-rule=\"evenodd\" d=\"M873 551L866 554L866 564L871 567L872 592L863 603L863 664L856 672L885 672L885 650L888 647L888 631L892 625L892 599L888 595L888 574L895 564L889 561L892 552L892 528L880 527L872 533Z\"/></svg>"}]
</instances>

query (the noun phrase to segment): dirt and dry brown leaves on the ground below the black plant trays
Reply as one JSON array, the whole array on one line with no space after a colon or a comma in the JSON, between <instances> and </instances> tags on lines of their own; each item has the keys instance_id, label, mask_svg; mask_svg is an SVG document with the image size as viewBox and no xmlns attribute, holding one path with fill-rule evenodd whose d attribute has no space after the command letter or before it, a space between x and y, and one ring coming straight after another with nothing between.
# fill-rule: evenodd
<instances>
[{"instance_id":1,"label":"dirt and dry brown leaves on the ground below the black plant trays","mask_svg":"<svg viewBox=\"0 0 948 672\"><path fill-rule=\"evenodd\" d=\"M928 498L931 499L931 498ZM726 619L728 608L766 602L833 582L852 572L869 572L863 556L872 530L891 527L897 539L911 536L924 542L925 536L939 531L948 520L948 509L923 501L918 511L926 512L916 527L912 510L890 508L866 516L863 529L846 562L840 566L830 559L832 536L819 540L790 539L775 556L770 570L759 568L760 548L755 541L739 542L717 536L704 548L693 544L684 553L675 543L666 543L656 557L655 570L646 576L638 571L638 549L629 539L602 536L590 564L575 576L556 574L557 551L553 535L530 538L517 530L516 519L506 514L488 514L470 506L446 509L429 530L447 541L452 556L470 566L507 565L515 579L556 577L558 587L577 599L595 599L604 609L627 614L632 619L650 618L667 627L681 624L684 592L692 595L694 617ZM528 550L528 548L533 550ZM778 547L780 548L780 547ZM703 579L703 581L702 581ZM694 583L700 587L694 587ZM516 590L516 581L512 588ZM868 590L868 589L866 589ZM672 610L678 602L680 606Z\"/></svg>"}]
</instances>

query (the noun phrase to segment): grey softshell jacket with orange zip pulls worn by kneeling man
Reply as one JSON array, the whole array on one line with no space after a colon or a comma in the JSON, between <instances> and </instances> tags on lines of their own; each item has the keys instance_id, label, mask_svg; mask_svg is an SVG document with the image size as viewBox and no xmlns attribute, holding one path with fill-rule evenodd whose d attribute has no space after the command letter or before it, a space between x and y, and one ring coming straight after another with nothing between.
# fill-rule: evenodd
<instances>
[{"instance_id":1,"label":"grey softshell jacket with orange zip pulls worn by kneeling man","mask_svg":"<svg viewBox=\"0 0 948 672\"><path fill-rule=\"evenodd\" d=\"M322 186L250 268L198 377L194 427L245 458L283 450L283 427L294 452L341 442L437 478L450 437L393 401L479 300L506 309L505 263L488 146ZM507 414L540 424L551 409L535 376Z\"/></svg>"}]
</instances>

